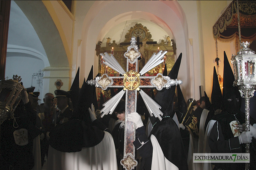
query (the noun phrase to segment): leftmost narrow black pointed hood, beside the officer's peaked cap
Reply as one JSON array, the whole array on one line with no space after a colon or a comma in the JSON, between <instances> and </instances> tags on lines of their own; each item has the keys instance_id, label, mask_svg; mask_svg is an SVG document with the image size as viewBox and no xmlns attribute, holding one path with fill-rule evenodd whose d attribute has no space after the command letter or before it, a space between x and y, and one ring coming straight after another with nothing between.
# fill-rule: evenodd
<instances>
[{"instance_id":1,"label":"leftmost narrow black pointed hood, beside the officer's peaked cap","mask_svg":"<svg viewBox=\"0 0 256 170\"><path fill-rule=\"evenodd\" d=\"M79 96L79 67L76 72L76 77L74 78L73 84L70 87L71 101L73 107L76 107L78 96Z\"/></svg>"}]
</instances>

